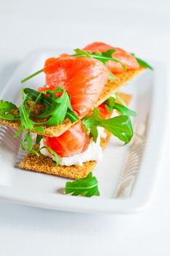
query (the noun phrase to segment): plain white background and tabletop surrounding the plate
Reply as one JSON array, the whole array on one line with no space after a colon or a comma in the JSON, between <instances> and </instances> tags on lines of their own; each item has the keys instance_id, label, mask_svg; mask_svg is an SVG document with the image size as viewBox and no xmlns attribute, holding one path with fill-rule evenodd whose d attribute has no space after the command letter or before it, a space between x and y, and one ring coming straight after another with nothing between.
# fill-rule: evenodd
<instances>
[{"instance_id":1,"label":"plain white background and tabletop surrounding the plate","mask_svg":"<svg viewBox=\"0 0 170 256\"><path fill-rule=\"evenodd\" d=\"M23 57L42 47L101 40L168 63L169 17L169 0L0 0L1 89ZM155 199L141 214L71 214L0 201L0 255L169 255L169 151Z\"/></svg>"}]
</instances>

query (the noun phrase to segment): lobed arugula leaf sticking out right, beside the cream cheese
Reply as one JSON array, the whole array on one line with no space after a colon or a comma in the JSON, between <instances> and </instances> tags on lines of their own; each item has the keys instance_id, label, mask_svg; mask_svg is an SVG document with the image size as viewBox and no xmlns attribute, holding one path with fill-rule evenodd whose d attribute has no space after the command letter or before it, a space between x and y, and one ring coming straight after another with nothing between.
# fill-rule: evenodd
<instances>
[{"instance_id":1,"label":"lobed arugula leaf sticking out right, beside the cream cheese","mask_svg":"<svg viewBox=\"0 0 170 256\"><path fill-rule=\"evenodd\" d=\"M92 135L94 134L94 127L104 127L111 132L112 135L115 135L120 140L128 143L130 140L128 139L127 135L131 136L133 133L128 127L128 119L128 116L116 116L109 119L102 119L99 117L99 110L94 108L91 116L85 116L82 118L82 124L84 125L85 129L90 129L90 134ZM93 140L96 142L96 131Z\"/></svg>"}]
</instances>

